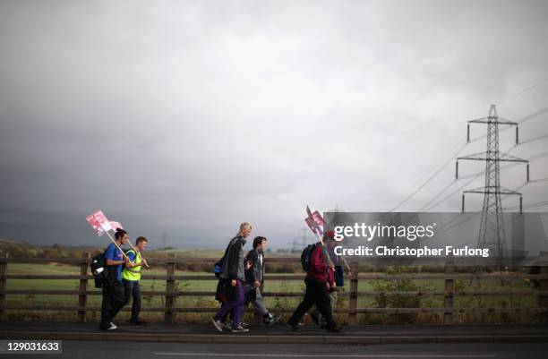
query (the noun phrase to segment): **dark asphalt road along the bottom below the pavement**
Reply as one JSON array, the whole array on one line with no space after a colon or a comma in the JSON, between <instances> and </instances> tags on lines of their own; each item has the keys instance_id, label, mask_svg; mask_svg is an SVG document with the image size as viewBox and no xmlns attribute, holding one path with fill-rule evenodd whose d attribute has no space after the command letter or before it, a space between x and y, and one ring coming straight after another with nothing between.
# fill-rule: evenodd
<instances>
[{"instance_id":1,"label":"dark asphalt road along the bottom below the pavement","mask_svg":"<svg viewBox=\"0 0 548 359\"><path fill-rule=\"evenodd\" d=\"M423 359L423 358L508 358L548 357L548 343L459 343L401 344L386 346L308 345L308 344L194 344L142 342L63 342L62 355L0 355L2 358L70 358L70 359Z\"/></svg>"}]
</instances>

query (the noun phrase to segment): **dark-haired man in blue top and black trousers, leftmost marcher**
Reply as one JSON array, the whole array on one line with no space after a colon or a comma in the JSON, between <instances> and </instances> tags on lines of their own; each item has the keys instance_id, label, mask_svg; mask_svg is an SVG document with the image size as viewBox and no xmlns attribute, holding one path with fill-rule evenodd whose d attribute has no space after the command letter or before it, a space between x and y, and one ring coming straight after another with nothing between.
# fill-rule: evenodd
<instances>
[{"instance_id":1,"label":"dark-haired man in blue top and black trousers, leftmost marcher","mask_svg":"<svg viewBox=\"0 0 548 359\"><path fill-rule=\"evenodd\" d=\"M129 241L129 235L124 229L118 228L116 229L115 239L117 246L114 243L108 244L107 251L105 251L107 278L103 283L101 323L99 325L99 329L101 330L113 330L117 328L112 320L125 304L122 265L130 263L130 261L118 247Z\"/></svg>"}]
</instances>

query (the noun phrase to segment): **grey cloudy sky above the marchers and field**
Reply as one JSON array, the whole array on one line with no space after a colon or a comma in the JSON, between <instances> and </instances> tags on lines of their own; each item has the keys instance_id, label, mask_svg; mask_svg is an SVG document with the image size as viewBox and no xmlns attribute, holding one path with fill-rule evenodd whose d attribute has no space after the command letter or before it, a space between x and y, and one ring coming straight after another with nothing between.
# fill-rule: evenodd
<instances>
[{"instance_id":1,"label":"grey cloudy sky above the marchers and field","mask_svg":"<svg viewBox=\"0 0 548 359\"><path fill-rule=\"evenodd\" d=\"M390 210L446 162L398 210L458 211L483 165L455 181L450 159L484 150L463 148L467 120L492 103L523 121L524 203L547 201L547 18L517 0L2 0L0 237L102 243L85 216L103 209L157 244L219 247L249 221L282 247L307 204Z\"/></svg>"}]
</instances>

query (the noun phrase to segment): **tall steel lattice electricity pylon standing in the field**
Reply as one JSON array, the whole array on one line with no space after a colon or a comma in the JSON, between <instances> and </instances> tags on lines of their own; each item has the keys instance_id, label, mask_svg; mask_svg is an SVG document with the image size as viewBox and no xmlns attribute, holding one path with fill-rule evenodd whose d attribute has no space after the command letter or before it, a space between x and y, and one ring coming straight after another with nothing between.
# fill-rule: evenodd
<instances>
[{"instance_id":1,"label":"tall steel lattice electricity pylon standing in the field","mask_svg":"<svg viewBox=\"0 0 548 359\"><path fill-rule=\"evenodd\" d=\"M516 145L519 143L519 132L518 123L499 117L495 105L491 105L488 117L468 121L467 142L470 142L470 124L487 124L487 151L457 158L456 178L458 178L459 159L485 161L485 185L462 193L462 211L465 211L465 193L484 193L484 208L482 209L482 222L477 239L477 248L487 248L489 252L497 253L501 264L506 249L504 225L502 223L501 194L518 195L519 212L522 213L523 211L521 193L501 187L501 162L527 163L527 182L529 182L529 163L523 158L510 156L506 153L500 154L499 125L516 126Z\"/></svg>"}]
</instances>

